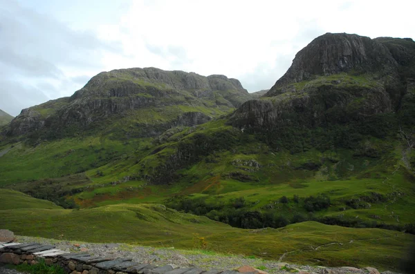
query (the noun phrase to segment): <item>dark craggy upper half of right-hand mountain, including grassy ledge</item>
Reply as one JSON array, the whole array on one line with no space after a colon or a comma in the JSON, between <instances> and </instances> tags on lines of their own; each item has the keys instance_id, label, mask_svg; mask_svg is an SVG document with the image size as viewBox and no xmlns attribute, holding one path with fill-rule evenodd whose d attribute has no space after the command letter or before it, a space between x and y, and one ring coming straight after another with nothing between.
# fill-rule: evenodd
<instances>
[{"instance_id":1,"label":"dark craggy upper half of right-hand mountain, including grassy ledge","mask_svg":"<svg viewBox=\"0 0 415 274\"><path fill-rule=\"evenodd\" d=\"M400 111L415 77L410 72L415 43L401 40L329 33L317 37L261 100L240 106L230 124L315 127Z\"/></svg>"}]
</instances>

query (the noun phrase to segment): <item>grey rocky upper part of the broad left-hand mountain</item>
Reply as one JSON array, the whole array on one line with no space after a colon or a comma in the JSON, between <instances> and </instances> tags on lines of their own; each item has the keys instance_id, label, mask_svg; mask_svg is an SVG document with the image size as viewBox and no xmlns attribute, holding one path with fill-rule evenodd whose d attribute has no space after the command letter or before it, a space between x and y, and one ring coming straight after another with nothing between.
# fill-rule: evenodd
<instances>
[{"instance_id":1,"label":"grey rocky upper part of the broad left-hand mountain","mask_svg":"<svg viewBox=\"0 0 415 274\"><path fill-rule=\"evenodd\" d=\"M193 126L248 99L251 97L241 83L224 75L203 77L158 68L112 70L96 75L71 97L22 110L6 134L19 136L48 128L66 130L68 126L87 129L91 124L126 117L136 110L166 107L181 109L167 114L172 115L167 117L167 127Z\"/></svg>"}]
</instances>

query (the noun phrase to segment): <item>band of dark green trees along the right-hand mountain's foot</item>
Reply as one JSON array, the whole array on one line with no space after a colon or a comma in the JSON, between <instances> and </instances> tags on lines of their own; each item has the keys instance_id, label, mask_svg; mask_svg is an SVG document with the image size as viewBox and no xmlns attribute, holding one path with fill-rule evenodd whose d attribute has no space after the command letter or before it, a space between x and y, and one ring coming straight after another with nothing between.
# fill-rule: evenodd
<instances>
[{"instance_id":1,"label":"band of dark green trees along the right-hand mountain's foot","mask_svg":"<svg viewBox=\"0 0 415 274\"><path fill-rule=\"evenodd\" d=\"M354 205L355 200L359 202L382 202L385 199L386 197L379 193L369 193L346 202ZM343 215L317 217L314 214L315 212L323 211L331 205L330 197L327 195L308 197L294 195L293 198L282 196L275 201L275 204L279 204L279 206L264 206L261 211L253 211L251 208L254 204L247 202L243 197L231 199L229 202L223 202L220 199L219 201L216 199L208 202L205 197L194 199L191 197L176 197L170 199L166 205L177 211L204 215L210 219L239 228L280 228L298 222L316 221L322 224L353 228L383 228L415 234L415 224L393 225Z\"/></svg>"}]
</instances>

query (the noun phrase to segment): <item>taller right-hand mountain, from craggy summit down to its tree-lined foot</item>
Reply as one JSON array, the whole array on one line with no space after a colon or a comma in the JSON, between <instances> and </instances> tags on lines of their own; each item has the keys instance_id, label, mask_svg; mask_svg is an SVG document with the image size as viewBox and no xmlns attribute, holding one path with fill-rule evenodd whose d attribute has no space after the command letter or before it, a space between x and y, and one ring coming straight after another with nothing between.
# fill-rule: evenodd
<instances>
[{"instance_id":1,"label":"taller right-hand mountain, from craggy summit down to its tree-lined foot","mask_svg":"<svg viewBox=\"0 0 415 274\"><path fill-rule=\"evenodd\" d=\"M264 97L163 139L128 173L175 186L168 206L232 226L313 219L414 233L414 46L317 37Z\"/></svg>"}]
</instances>

